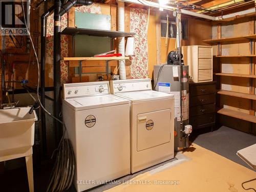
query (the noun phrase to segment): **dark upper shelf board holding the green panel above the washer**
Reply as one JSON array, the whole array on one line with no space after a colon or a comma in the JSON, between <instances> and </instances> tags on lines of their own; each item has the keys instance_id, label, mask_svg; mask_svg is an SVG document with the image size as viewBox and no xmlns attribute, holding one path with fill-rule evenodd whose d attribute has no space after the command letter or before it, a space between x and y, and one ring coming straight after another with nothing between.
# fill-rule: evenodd
<instances>
[{"instance_id":1,"label":"dark upper shelf board holding the green panel above the washer","mask_svg":"<svg viewBox=\"0 0 256 192\"><path fill-rule=\"evenodd\" d=\"M129 32L120 32L120 31L108 31L108 30L98 30L98 29L83 29L83 28L73 28L66 27L63 31L61 31L63 35L92 35L92 36L100 36L100 37L131 37L135 35L135 33Z\"/></svg>"}]
</instances>

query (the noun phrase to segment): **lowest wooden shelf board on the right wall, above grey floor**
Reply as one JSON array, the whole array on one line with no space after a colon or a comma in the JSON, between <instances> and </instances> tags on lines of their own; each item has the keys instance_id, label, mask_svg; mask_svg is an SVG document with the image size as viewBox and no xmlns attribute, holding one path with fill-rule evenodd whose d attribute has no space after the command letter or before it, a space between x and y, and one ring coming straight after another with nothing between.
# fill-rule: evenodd
<instances>
[{"instance_id":1,"label":"lowest wooden shelf board on the right wall, above grey floor","mask_svg":"<svg viewBox=\"0 0 256 192\"><path fill-rule=\"evenodd\" d=\"M229 110L229 109L224 109L224 108L219 110L217 113L256 123L256 116L249 115L246 113L233 111L233 110Z\"/></svg>"}]
</instances>

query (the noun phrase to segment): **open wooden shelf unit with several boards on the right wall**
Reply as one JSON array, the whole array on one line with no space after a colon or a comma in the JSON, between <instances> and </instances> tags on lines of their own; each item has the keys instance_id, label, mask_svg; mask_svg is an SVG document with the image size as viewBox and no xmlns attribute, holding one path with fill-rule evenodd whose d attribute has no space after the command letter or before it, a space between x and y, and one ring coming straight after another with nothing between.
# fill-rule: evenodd
<instances>
[{"instance_id":1,"label":"open wooden shelf unit with several boards on the right wall","mask_svg":"<svg viewBox=\"0 0 256 192\"><path fill-rule=\"evenodd\" d=\"M256 123L256 116L255 116L255 100L256 100L256 95L255 95L255 79L256 79L256 74L255 74L255 39L256 39L256 34L255 34L255 17L251 17L249 21L249 28L248 28L248 33L250 35L245 35L245 36L234 36L234 37L228 37L228 38L222 38L222 24L219 23L217 25L217 38L216 39L207 39L203 40L203 42L210 44L210 45L215 45L217 46L217 63L219 65L218 69L219 71L215 73L216 77L219 76L219 84L218 84L218 89L221 89L221 79L223 76L229 76L229 77L242 77L242 78L249 78L249 94L245 93L239 93L239 92L233 92L233 91L226 91L226 90L220 90L218 91L218 94L220 95L227 95L231 97L240 97L240 98L245 98L249 99L250 105L249 105L249 114L241 113L239 111L233 111L229 109L223 108L223 104L221 102L221 97L219 97L219 103L220 103L220 110L218 111L219 114L238 118L238 119L243 119L251 123L251 129L256 129L255 123ZM249 46L249 53L248 54L243 54L243 55L222 55L222 44L240 44L247 42ZM222 72L222 59L221 58L236 58L236 57L248 57L249 58L249 71L248 74L232 74L232 73L221 73ZM256 135L256 132L255 132Z\"/></svg>"}]
</instances>

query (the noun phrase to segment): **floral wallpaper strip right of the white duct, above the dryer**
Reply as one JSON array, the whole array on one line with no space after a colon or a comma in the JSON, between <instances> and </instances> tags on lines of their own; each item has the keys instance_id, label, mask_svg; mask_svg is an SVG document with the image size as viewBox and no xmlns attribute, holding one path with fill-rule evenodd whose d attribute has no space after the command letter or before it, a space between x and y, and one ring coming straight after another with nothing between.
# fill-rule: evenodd
<instances>
[{"instance_id":1,"label":"floral wallpaper strip right of the white duct, above the dryer","mask_svg":"<svg viewBox=\"0 0 256 192\"><path fill-rule=\"evenodd\" d=\"M130 32L136 33L134 36L135 56L132 57L131 78L147 78L147 11L131 8L130 17Z\"/></svg>"}]
</instances>

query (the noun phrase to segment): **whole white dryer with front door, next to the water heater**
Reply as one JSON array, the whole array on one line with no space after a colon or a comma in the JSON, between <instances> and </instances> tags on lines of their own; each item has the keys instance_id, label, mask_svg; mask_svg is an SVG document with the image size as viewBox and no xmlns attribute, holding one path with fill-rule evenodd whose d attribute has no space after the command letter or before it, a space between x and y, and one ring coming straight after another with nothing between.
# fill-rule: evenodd
<instances>
[{"instance_id":1,"label":"whole white dryer with front door, next to the water heater","mask_svg":"<svg viewBox=\"0 0 256 192\"><path fill-rule=\"evenodd\" d=\"M174 95L152 91L151 79L110 82L130 100L131 173L174 158Z\"/></svg>"}]
</instances>

